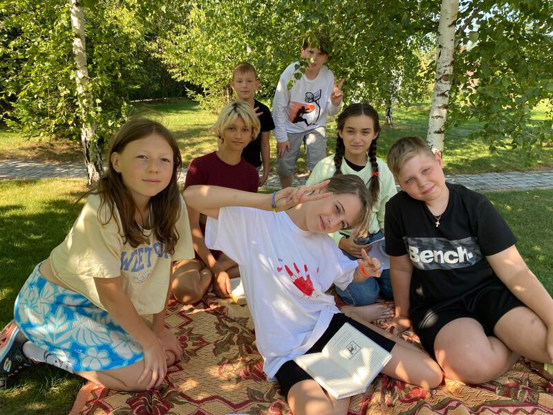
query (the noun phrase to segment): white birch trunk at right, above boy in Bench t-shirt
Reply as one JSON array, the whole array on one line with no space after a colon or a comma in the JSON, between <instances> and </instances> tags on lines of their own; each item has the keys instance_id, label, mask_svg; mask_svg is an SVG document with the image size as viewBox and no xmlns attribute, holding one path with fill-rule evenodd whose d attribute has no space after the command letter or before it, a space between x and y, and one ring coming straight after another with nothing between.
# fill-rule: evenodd
<instances>
[{"instance_id":1,"label":"white birch trunk at right, above boy in Bench t-shirt","mask_svg":"<svg viewBox=\"0 0 553 415\"><path fill-rule=\"evenodd\" d=\"M430 107L427 143L432 151L444 151L444 124L449 107L449 90L453 72L455 51L455 26L459 0L442 0L438 26L438 51L436 53L436 77Z\"/></svg>"}]
</instances>

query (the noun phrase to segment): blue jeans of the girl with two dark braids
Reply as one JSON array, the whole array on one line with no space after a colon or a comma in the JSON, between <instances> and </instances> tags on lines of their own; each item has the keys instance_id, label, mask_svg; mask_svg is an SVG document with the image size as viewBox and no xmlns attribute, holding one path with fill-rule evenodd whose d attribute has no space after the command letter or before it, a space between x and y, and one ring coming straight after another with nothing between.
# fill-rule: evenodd
<instances>
[{"instance_id":1,"label":"blue jeans of the girl with two dark braids","mask_svg":"<svg viewBox=\"0 0 553 415\"><path fill-rule=\"evenodd\" d=\"M382 232L377 232L371 237L368 237L368 242L376 241L382 238ZM359 259L348 252L342 250L344 255L349 259ZM369 255L371 255L369 253ZM375 304L378 295L382 295L385 299L393 299L392 283L390 281L390 270L382 270L382 274L379 278L370 277L364 282L352 282L346 287L345 290L341 290L336 287L336 292L344 300L344 302L352 306L368 306L369 304Z\"/></svg>"}]
</instances>

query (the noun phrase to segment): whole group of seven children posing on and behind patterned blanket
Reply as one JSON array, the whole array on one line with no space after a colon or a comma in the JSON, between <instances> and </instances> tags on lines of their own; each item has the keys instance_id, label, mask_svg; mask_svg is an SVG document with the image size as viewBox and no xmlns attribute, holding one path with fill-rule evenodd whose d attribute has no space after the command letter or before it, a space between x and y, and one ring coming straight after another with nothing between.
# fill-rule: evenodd
<instances>
[{"instance_id":1,"label":"whole group of seven children posing on and behind patterned blanket","mask_svg":"<svg viewBox=\"0 0 553 415\"><path fill-rule=\"evenodd\" d=\"M236 101L214 126L218 149L190 163L184 200L173 134L144 118L119 129L73 228L17 296L0 336L1 386L47 362L115 390L158 387L181 351L164 326L171 293L194 303L212 286L228 297L238 276L263 369L296 415L347 412L349 398L334 400L292 360L321 351L346 322L391 351L382 373L429 389L442 372L480 383L520 356L552 362L552 298L494 206L446 183L439 154L406 137L386 165L377 112L351 104L326 156L326 114L339 112L342 82L316 46L303 45L308 67L292 89L294 64L281 76L274 123L254 100L254 68L236 66ZM261 194L273 128L283 188ZM311 175L293 188L301 142ZM386 269L370 257L382 233ZM337 308L333 285L349 306ZM395 315L374 304L379 295L395 300ZM428 354L370 324L386 317L412 326Z\"/></svg>"}]
</instances>

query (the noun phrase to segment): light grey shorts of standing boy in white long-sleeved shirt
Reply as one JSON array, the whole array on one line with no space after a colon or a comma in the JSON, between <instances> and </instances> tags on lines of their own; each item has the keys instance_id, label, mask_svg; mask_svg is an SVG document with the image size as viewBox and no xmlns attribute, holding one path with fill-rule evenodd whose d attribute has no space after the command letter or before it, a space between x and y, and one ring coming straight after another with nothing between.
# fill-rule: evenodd
<instances>
[{"instance_id":1,"label":"light grey shorts of standing boy in white long-sleeved shirt","mask_svg":"<svg viewBox=\"0 0 553 415\"><path fill-rule=\"evenodd\" d=\"M275 161L277 173L281 177L294 174L302 142L306 145L306 167L310 172L326 157L326 127L315 127L303 133L288 133L288 141L290 149Z\"/></svg>"}]
</instances>

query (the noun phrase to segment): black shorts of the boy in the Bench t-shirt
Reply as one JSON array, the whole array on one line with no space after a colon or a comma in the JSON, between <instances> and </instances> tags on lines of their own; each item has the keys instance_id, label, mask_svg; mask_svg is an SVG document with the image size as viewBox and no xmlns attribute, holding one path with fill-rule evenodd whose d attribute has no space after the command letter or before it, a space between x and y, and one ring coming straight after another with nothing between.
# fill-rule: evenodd
<instances>
[{"instance_id":1,"label":"black shorts of the boy in the Bench t-shirt","mask_svg":"<svg viewBox=\"0 0 553 415\"><path fill-rule=\"evenodd\" d=\"M486 335L494 335L494 327L507 311L525 306L516 298L503 282L494 278L454 301L441 302L431 306L414 304L411 306L411 324L420 338L422 346L434 356L434 341L440 330L449 322L469 317L484 328Z\"/></svg>"}]
</instances>

